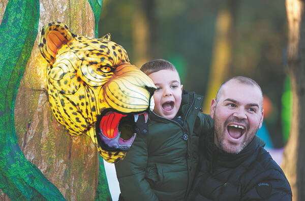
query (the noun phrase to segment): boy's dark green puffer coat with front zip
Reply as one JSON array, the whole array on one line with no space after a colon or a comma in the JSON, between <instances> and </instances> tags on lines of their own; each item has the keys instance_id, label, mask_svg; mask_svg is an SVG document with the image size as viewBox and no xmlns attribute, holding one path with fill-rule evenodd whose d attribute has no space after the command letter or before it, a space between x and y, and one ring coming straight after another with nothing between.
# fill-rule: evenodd
<instances>
[{"instance_id":1,"label":"boy's dark green puffer coat with front zip","mask_svg":"<svg viewBox=\"0 0 305 201\"><path fill-rule=\"evenodd\" d=\"M198 164L199 136L213 126L199 112L202 96L182 95L176 121L151 113L148 135L138 135L124 160L115 164L121 196L128 200L184 200Z\"/></svg>"}]
</instances>

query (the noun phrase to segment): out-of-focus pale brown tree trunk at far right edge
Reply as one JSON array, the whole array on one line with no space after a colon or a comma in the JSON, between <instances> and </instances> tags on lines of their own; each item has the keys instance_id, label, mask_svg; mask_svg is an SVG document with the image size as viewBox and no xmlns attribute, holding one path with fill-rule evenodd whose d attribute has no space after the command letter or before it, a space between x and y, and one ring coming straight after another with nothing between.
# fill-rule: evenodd
<instances>
[{"instance_id":1,"label":"out-of-focus pale brown tree trunk at far right edge","mask_svg":"<svg viewBox=\"0 0 305 201\"><path fill-rule=\"evenodd\" d=\"M292 188L293 200L305 200L305 19L304 2L286 0L288 18L287 63L291 77L292 120L282 168Z\"/></svg>"}]
</instances>

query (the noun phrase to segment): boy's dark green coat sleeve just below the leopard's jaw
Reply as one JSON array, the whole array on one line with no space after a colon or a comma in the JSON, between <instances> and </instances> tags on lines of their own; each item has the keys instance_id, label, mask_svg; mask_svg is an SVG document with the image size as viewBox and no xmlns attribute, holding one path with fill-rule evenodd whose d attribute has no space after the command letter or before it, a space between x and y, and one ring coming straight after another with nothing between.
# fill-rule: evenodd
<instances>
[{"instance_id":1,"label":"boy's dark green coat sleeve just below the leopard's jaw","mask_svg":"<svg viewBox=\"0 0 305 201\"><path fill-rule=\"evenodd\" d=\"M145 179L147 157L147 136L137 135L126 157L115 164L121 196L126 201L158 200Z\"/></svg>"}]
</instances>

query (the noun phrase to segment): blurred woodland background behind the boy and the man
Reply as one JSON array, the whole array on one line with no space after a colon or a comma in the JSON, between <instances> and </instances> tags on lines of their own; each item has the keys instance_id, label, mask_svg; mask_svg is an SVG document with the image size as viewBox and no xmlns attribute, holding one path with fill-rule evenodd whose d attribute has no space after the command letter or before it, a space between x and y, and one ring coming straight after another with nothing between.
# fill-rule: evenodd
<instances>
[{"instance_id":1,"label":"blurred woodland background behind the boy and the man","mask_svg":"<svg viewBox=\"0 0 305 201\"><path fill-rule=\"evenodd\" d=\"M209 101L229 77L254 79L272 103L264 122L273 146L285 145L285 0L104 0L99 37L108 32L125 47L131 63L140 68L148 60L167 59L177 67L184 89ZM209 113L206 104L203 108Z\"/></svg>"}]
</instances>

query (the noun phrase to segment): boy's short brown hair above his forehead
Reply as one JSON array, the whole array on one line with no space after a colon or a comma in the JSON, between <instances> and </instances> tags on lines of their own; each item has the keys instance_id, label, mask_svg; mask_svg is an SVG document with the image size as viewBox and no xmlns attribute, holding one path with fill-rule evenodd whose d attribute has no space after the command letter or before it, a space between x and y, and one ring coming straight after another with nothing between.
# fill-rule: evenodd
<instances>
[{"instance_id":1,"label":"boy's short brown hair above his forehead","mask_svg":"<svg viewBox=\"0 0 305 201\"><path fill-rule=\"evenodd\" d=\"M146 75L150 75L161 70L171 70L177 72L175 66L171 62L164 59L154 59L148 61L142 65L140 70Z\"/></svg>"}]
</instances>

